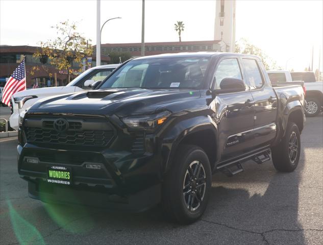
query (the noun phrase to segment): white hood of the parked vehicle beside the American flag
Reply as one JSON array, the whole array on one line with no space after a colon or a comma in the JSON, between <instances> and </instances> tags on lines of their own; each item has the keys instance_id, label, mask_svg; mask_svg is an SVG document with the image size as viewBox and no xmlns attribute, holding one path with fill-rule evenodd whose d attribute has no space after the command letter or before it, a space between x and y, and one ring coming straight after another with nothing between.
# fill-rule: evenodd
<instances>
[{"instance_id":1,"label":"white hood of the parked vehicle beside the American flag","mask_svg":"<svg viewBox=\"0 0 323 245\"><path fill-rule=\"evenodd\" d=\"M75 86L61 86L61 87L48 87L48 88L35 88L27 89L17 92L13 97L21 97L28 95L36 95L37 97L47 97L56 94L72 93L76 91Z\"/></svg>"}]
</instances>

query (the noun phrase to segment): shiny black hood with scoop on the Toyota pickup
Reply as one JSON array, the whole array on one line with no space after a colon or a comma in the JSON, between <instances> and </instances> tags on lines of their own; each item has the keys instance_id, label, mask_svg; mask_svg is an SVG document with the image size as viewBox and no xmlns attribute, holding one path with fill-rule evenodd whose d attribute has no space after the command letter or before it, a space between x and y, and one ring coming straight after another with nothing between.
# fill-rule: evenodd
<instances>
[{"instance_id":1,"label":"shiny black hood with scoop on the Toyota pickup","mask_svg":"<svg viewBox=\"0 0 323 245\"><path fill-rule=\"evenodd\" d=\"M36 102L30 112L129 116L194 108L200 90L117 88L64 94ZM204 103L205 104L205 103Z\"/></svg>"}]
</instances>

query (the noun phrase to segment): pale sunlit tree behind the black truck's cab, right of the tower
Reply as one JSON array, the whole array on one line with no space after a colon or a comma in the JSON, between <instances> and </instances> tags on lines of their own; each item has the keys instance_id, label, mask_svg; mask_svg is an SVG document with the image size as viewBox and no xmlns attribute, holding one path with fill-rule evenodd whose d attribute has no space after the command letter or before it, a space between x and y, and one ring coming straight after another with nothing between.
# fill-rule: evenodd
<instances>
[{"instance_id":1,"label":"pale sunlit tree behind the black truck's cab, right of the tower","mask_svg":"<svg viewBox=\"0 0 323 245\"><path fill-rule=\"evenodd\" d=\"M260 47L252 44L249 40L241 38L235 43L235 53L257 55L261 58L266 70L281 69Z\"/></svg>"}]
</instances>

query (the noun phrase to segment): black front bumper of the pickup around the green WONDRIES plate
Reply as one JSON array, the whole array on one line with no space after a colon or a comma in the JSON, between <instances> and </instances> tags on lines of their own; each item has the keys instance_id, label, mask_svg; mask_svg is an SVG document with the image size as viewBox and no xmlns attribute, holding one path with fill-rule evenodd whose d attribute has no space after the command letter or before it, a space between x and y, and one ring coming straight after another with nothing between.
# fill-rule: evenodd
<instances>
[{"instance_id":1,"label":"black front bumper of the pickup around the green WONDRIES plate","mask_svg":"<svg viewBox=\"0 0 323 245\"><path fill-rule=\"evenodd\" d=\"M62 151L29 143L18 145L17 153L18 173L28 181L30 197L43 202L142 211L161 200L161 161L153 154ZM87 163L101 168L87 169ZM72 184L47 183L49 166L71 168Z\"/></svg>"}]
</instances>

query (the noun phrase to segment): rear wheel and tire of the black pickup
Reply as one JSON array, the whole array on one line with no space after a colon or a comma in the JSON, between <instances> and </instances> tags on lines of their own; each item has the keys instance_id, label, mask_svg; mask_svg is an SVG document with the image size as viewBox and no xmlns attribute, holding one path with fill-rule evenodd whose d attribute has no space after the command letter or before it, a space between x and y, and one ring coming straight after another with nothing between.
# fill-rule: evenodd
<instances>
[{"instance_id":1,"label":"rear wheel and tire of the black pickup","mask_svg":"<svg viewBox=\"0 0 323 245\"><path fill-rule=\"evenodd\" d=\"M287 123L286 133L281 142L271 148L272 163L280 172L292 172L299 164L301 134L294 122Z\"/></svg>"}]
</instances>

